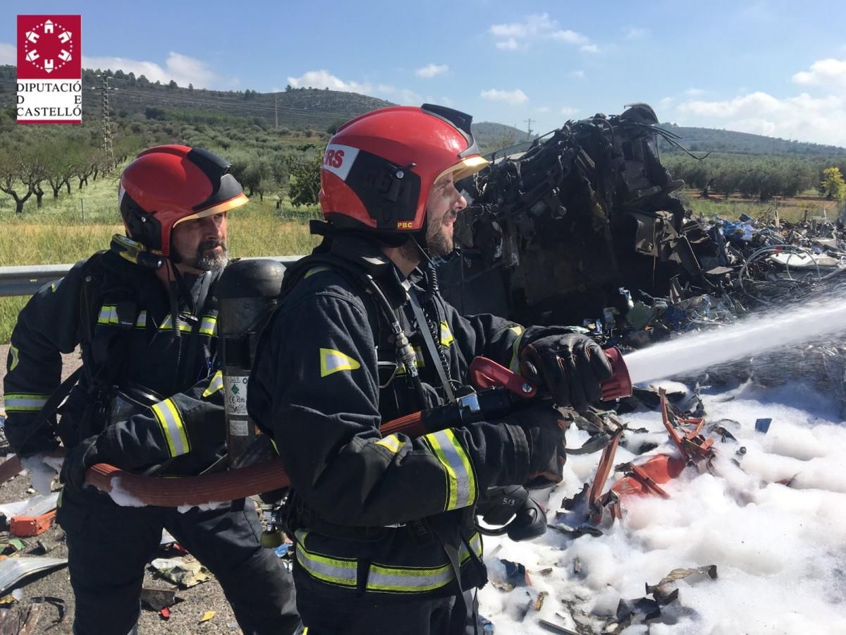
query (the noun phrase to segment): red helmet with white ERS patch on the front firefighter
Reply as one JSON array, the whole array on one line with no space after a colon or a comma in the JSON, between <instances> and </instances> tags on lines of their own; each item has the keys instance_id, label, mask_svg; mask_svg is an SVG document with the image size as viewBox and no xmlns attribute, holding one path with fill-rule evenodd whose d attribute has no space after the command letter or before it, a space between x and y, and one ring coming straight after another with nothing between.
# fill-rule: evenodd
<instances>
[{"instance_id":1,"label":"red helmet with white ERS patch on the front firefighter","mask_svg":"<svg viewBox=\"0 0 846 635\"><path fill-rule=\"evenodd\" d=\"M380 108L343 124L323 155L324 217L345 229L426 229L426 200L437 179L463 179L488 163L470 132L472 119L423 104Z\"/></svg>"}]
</instances>

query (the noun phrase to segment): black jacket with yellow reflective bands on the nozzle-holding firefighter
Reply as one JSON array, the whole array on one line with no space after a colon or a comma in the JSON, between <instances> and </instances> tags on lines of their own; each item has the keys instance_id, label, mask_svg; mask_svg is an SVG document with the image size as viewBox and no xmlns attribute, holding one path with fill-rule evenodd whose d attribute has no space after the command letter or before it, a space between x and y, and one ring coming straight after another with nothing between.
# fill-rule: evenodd
<instances>
[{"instance_id":1,"label":"black jacket with yellow reflective bands on the nozzle-holding firefighter","mask_svg":"<svg viewBox=\"0 0 846 635\"><path fill-rule=\"evenodd\" d=\"M524 331L492 315L459 316L420 274L405 281L377 249L350 242L335 239L331 251L361 265L357 273L319 261L286 272L299 282L283 283L287 295L261 336L250 376L250 416L277 441L296 492L298 566L330 593L454 594L457 551L462 588L481 586L472 511L488 487L525 482L525 434L479 422L415 439L382 437L380 423L421 406L360 273L374 276L402 317L428 406L442 400L434 367L441 361L426 350L426 325L415 323L404 285L415 284L449 374L461 384L475 356L516 367ZM349 256L357 251L357 260Z\"/></svg>"}]
</instances>

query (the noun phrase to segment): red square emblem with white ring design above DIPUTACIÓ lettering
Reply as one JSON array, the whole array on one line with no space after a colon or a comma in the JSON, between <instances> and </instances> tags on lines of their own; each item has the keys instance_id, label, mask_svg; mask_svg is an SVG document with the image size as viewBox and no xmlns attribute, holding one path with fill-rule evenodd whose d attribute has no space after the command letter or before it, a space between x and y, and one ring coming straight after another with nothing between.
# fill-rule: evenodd
<instances>
[{"instance_id":1,"label":"red square emblem with white ring design above DIPUTACI\u00d3 lettering","mask_svg":"<svg viewBox=\"0 0 846 635\"><path fill-rule=\"evenodd\" d=\"M79 80L82 16L19 15L18 78Z\"/></svg>"}]
</instances>

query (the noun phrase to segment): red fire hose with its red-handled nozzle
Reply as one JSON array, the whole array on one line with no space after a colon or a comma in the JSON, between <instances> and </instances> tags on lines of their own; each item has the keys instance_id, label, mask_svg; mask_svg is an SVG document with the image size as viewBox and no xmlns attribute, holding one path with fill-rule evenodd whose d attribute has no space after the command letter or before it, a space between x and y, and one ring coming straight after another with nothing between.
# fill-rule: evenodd
<instances>
[{"instance_id":1,"label":"red fire hose with its red-handled nozzle","mask_svg":"<svg viewBox=\"0 0 846 635\"><path fill-rule=\"evenodd\" d=\"M602 383L602 400L631 395L632 384L623 356L618 349L605 351L613 367L613 376ZM535 397L537 389L519 375L485 357L476 357L470 365L471 383L478 389L447 406L419 411L382 424L382 435L404 433L419 436L442 428L460 427L471 421L504 417L519 403ZM13 457L0 464L0 478L11 470ZM18 467L11 474L20 470ZM290 485L282 460L273 458L227 472L214 472L185 478L157 478L127 472L97 463L90 467L85 482L108 494L127 496L137 505L180 507L209 505L237 500L282 489Z\"/></svg>"}]
</instances>

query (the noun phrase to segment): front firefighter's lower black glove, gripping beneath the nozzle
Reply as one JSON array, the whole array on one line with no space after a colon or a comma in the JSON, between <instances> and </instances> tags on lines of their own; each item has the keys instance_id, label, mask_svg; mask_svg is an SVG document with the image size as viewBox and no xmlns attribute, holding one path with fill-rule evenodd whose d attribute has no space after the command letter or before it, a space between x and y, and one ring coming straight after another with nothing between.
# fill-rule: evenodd
<instances>
[{"instance_id":1,"label":"front firefighter's lower black glove, gripping beneath the nozzle","mask_svg":"<svg viewBox=\"0 0 846 635\"><path fill-rule=\"evenodd\" d=\"M514 411L509 422L523 428L529 442L529 480L526 489L541 489L561 483L567 455L564 431L567 422L548 404L538 404Z\"/></svg>"}]
</instances>

